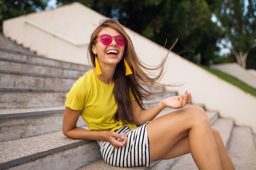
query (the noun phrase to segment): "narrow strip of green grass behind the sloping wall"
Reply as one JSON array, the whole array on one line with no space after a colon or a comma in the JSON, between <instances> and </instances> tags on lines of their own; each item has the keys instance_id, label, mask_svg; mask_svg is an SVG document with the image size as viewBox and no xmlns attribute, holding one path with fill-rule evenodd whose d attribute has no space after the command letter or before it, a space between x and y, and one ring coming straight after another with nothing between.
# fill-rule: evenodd
<instances>
[{"instance_id":1,"label":"narrow strip of green grass behind the sloping wall","mask_svg":"<svg viewBox=\"0 0 256 170\"><path fill-rule=\"evenodd\" d=\"M230 84L233 84L234 86L237 86L238 88L242 89L243 91L246 91L247 93L250 93L251 95L256 97L256 89L254 89L250 86L247 86L246 84L240 82L238 79L236 79L230 75L227 75L225 73L222 73L221 71L215 70L213 68L209 68L207 66L203 66L203 65L199 65L199 64L197 64L197 65L204 68L205 70L209 71L210 73L213 73L214 75L220 77L221 79L229 82Z\"/></svg>"}]
</instances>

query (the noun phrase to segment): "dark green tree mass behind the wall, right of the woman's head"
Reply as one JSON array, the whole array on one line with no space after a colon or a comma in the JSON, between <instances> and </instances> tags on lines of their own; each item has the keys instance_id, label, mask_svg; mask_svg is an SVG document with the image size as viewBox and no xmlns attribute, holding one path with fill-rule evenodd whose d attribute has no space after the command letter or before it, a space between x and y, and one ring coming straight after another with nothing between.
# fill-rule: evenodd
<instances>
[{"instance_id":1,"label":"dark green tree mass behind the wall, right of the woman's head","mask_svg":"<svg viewBox=\"0 0 256 170\"><path fill-rule=\"evenodd\" d=\"M211 21L218 0L76 0L108 18L117 18L133 31L164 46L179 38L175 52L208 64L218 51L221 30ZM58 4L73 0L57 0ZM195 60L199 56L200 60Z\"/></svg>"}]
</instances>

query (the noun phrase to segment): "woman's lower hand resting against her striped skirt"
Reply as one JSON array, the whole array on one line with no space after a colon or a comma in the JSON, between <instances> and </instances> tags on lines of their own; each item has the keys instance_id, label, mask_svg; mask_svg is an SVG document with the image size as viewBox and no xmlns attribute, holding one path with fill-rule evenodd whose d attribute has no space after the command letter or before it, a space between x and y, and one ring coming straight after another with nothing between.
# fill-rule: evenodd
<instances>
[{"instance_id":1,"label":"woman's lower hand resting against her striped skirt","mask_svg":"<svg viewBox=\"0 0 256 170\"><path fill-rule=\"evenodd\" d=\"M117 132L109 131L107 133L107 141L114 147L123 147L126 146L127 143L127 135L119 134Z\"/></svg>"}]
</instances>

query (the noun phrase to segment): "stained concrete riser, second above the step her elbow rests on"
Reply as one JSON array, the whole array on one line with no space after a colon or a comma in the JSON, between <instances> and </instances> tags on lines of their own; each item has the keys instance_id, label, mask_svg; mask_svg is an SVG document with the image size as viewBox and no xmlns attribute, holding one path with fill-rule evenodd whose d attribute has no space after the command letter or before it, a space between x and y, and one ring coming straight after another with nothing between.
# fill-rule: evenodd
<instances>
[{"instance_id":1,"label":"stained concrete riser, second above the step her elbow rests on","mask_svg":"<svg viewBox=\"0 0 256 170\"><path fill-rule=\"evenodd\" d=\"M0 87L0 109L63 106L68 90Z\"/></svg>"}]
</instances>

